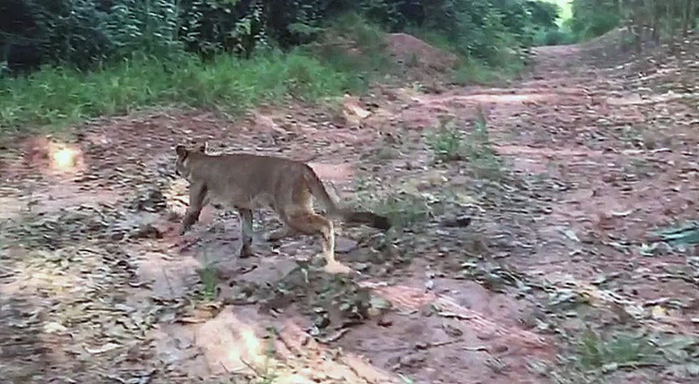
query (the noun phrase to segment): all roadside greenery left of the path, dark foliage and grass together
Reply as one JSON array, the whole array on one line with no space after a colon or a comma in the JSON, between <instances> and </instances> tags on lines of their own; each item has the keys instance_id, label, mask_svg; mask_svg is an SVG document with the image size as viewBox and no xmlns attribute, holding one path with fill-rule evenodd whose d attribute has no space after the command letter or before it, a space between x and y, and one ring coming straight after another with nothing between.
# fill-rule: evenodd
<instances>
[{"instance_id":1,"label":"all roadside greenery left of the path, dark foliage and grass together","mask_svg":"<svg viewBox=\"0 0 699 384\"><path fill-rule=\"evenodd\" d=\"M558 16L524 0L278 3L12 1L0 23L0 131L156 106L234 115L261 102L361 92L390 68L386 32L448 48L461 59L458 82L477 82L521 69L537 31Z\"/></svg>"}]
</instances>

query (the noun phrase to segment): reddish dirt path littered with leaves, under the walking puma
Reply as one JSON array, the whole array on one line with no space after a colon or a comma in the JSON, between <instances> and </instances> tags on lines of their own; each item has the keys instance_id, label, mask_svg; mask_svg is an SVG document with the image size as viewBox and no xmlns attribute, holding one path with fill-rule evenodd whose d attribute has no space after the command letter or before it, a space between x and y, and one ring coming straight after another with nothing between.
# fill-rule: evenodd
<instances>
[{"instance_id":1,"label":"reddish dirt path littered with leaves, under the walking puma","mask_svg":"<svg viewBox=\"0 0 699 384\"><path fill-rule=\"evenodd\" d=\"M343 111L93 121L70 172L23 141L23 158L0 159L0 371L12 383L696 380L699 260L651 234L697 214L699 111L639 94L590 52L541 48L507 88L376 87ZM338 229L354 280L308 263L313 238L238 260L225 212L180 238L178 138L310 160L341 199L392 212L402 231Z\"/></svg>"}]
</instances>

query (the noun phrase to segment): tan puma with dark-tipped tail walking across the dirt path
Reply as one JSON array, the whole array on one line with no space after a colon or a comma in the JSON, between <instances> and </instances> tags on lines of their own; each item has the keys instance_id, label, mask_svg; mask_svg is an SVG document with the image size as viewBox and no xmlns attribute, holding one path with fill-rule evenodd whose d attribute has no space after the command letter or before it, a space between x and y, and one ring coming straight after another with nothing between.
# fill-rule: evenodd
<instances>
[{"instance_id":1,"label":"tan puma with dark-tipped tail walking across the dirt path","mask_svg":"<svg viewBox=\"0 0 699 384\"><path fill-rule=\"evenodd\" d=\"M350 268L335 260L332 221L313 211L313 198L325 206L327 215L347 222L389 229L389 220L372 212L340 209L332 201L318 175L307 164L286 158L236 153L207 155L205 146L193 150L177 146L175 172L190 182L190 207L180 234L195 224L207 204L237 209L241 221L240 256L251 255L252 212L269 207L284 226L266 238L277 240L293 234L318 234L323 238L325 269L347 273Z\"/></svg>"}]
</instances>

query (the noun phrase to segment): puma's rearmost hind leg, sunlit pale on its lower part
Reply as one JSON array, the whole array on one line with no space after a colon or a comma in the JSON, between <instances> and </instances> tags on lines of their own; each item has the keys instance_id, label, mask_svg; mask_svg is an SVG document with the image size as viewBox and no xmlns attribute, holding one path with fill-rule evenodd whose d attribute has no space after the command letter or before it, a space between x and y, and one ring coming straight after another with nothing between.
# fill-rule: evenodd
<instances>
[{"instance_id":1,"label":"puma's rearmost hind leg, sunlit pale on its lower part","mask_svg":"<svg viewBox=\"0 0 699 384\"><path fill-rule=\"evenodd\" d=\"M335 231L332 221L312 212L285 216L283 221L291 229L302 234L319 234L323 238L323 258L325 258L325 272L327 273L351 273L352 268L347 267L335 259Z\"/></svg>"}]
</instances>

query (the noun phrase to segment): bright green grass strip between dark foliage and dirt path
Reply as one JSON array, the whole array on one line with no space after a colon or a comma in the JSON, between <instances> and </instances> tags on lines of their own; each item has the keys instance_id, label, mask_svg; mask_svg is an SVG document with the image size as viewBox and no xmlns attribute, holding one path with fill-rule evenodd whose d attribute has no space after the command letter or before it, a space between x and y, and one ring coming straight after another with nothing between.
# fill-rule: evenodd
<instances>
[{"instance_id":1,"label":"bright green grass strip between dark foliage and dirt path","mask_svg":"<svg viewBox=\"0 0 699 384\"><path fill-rule=\"evenodd\" d=\"M87 73L43 67L28 77L0 78L0 133L173 104L236 114L260 102L313 100L365 85L356 72L301 50L251 60L221 55L206 63L189 55L136 57Z\"/></svg>"}]
</instances>

